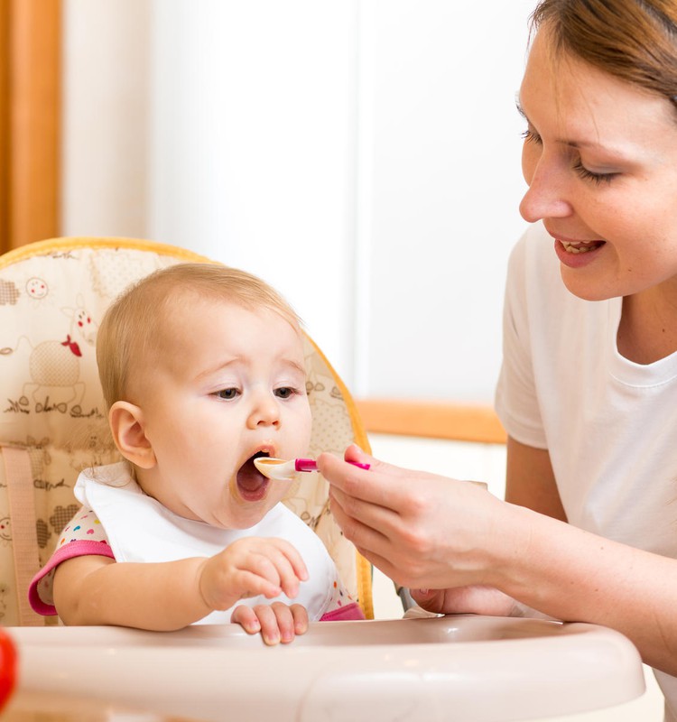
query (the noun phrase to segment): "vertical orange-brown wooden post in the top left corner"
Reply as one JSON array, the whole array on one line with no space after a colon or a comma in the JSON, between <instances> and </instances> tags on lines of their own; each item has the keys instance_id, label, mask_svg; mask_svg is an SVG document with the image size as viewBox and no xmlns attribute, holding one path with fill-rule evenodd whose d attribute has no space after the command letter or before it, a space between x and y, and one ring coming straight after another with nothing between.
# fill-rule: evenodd
<instances>
[{"instance_id":1,"label":"vertical orange-brown wooden post in the top left corner","mask_svg":"<svg viewBox=\"0 0 677 722\"><path fill-rule=\"evenodd\" d=\"M60 232L60 0L0 0L0 252Z\"/></svg>"}]
</instances>

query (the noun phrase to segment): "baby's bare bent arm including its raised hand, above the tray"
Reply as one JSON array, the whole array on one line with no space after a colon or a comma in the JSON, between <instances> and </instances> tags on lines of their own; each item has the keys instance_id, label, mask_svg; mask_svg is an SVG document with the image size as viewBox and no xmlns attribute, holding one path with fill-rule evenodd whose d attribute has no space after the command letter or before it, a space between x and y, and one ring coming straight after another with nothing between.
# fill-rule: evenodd
<instances>
[{"instance_id":1,"label":"baby's bare bent arm including its raised hand, above the tray","mask_svg":"<svg viewBox=\"0 0 677 722\"><path fill-rule=\"evenodd\" d=\"M307 578L289 542L248 537L209 559L116 563L88 555L63 561L54 575L54 603L67 625L172 630L241 598L295 597Z\"/></svg>"}]
</instances>

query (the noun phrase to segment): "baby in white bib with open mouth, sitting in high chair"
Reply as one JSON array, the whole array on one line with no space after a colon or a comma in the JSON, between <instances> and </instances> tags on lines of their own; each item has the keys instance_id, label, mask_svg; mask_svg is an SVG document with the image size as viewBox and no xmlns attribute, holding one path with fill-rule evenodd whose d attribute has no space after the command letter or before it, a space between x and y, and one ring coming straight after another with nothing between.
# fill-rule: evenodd
<instances>
[{"instance_id":1,"label":"baby in white bib with open mouth, sitting in high chair","mask_svg":"<svg viewBox=\"0 0 677 722\"><path fill-rule=\"evenodd\" d=\"M158 271L107 311L97 362L125 461L80 474L82 508L29 590L36 611L153 630L232 621L267 644L309 619L363 618L281 504L288 484L254 465L301 457L311 438L301 327L277 292L217 264Z\"/></svg>"}]
</instances>

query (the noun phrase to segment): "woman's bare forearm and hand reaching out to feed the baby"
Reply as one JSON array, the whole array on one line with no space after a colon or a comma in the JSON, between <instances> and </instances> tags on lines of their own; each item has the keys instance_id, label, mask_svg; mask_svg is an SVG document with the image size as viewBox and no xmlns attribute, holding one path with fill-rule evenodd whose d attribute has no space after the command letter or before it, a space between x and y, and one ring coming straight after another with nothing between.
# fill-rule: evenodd
<instances>
[{"instance_id":1,"label":"woman's bare forearm and hand reaching out to feed the baby","mask_svg":"<svg viewBox=\"0 0 677 722\"><path fill-rule=\"evenodd\" d=\"M645 662L677 674L677 560L610 542L478 486L390 467L355 447L347 457L372 467L329 454L318 459L332 511L348 539L396 583L496 588L545 615L617 629Z\"/></svg>"}]
</instances>

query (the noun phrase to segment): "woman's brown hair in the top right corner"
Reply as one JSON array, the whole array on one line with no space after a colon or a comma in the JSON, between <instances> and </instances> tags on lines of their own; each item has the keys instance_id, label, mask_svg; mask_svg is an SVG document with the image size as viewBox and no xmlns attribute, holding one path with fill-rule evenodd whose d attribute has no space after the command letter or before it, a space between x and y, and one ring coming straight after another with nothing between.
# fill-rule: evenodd
<instances>
[{"instance_id":1,"label":"woman's brown hair in the top right corner","mask_svg":"<svg viewBox=\"0 0 677 722\"><path fill-rule=\"evenodd\" d=\"M677 106L675 0L541 0L531 30L544 25L564 51Z\"/></svg>"}]
</instances>

